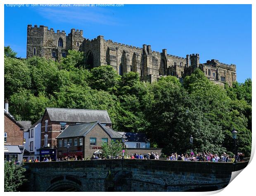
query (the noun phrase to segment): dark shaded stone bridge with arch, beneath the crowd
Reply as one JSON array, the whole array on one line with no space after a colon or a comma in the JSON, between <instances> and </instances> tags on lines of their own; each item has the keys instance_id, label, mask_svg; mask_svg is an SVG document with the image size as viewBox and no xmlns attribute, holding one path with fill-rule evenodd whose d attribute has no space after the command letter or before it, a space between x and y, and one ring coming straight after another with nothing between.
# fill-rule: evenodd
<instances>
[{"instance_id":1,"label":"dark shaded stone bridge with arch, beneath the crowd","mask_svg":"<svg viewBox=\"0 0 256 196\"><path fill-rule=\"evenodd\" d=\"M24 163L22 191L214 191L241 163L121 159Z\"/></svg>"}]
</instances>

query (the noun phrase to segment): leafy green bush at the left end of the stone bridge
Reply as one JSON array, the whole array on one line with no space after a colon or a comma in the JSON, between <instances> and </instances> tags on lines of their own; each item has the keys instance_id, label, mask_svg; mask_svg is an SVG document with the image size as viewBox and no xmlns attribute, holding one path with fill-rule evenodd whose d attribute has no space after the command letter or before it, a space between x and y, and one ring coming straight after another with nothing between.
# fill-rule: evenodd
<instances>
[{"instance_id":1,"label":"leafy green bush at the left end of the stone bridge","mask_svg":"<svg viewBox=\"0 0 256 196\"><path fill-rule=\"evenodd\" d=\"M14 161L5 161L5 192L14 192L19 189L19 187L26 182L24 172L26 171L22 165L15 165Z\"/></svg>"}]
</instances>

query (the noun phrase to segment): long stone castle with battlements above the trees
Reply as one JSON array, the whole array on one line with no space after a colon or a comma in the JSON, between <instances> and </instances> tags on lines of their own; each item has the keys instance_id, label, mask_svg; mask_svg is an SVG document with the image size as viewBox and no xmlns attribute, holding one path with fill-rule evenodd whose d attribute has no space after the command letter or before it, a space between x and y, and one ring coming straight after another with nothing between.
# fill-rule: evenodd
<instances>
[{"instance_id":1,"label":"long stone castle with battlements above the trees","mask_svg":"<svg viewBox=\"0 0 256 196\"><path fill-rule=\"evenodd\" d=\"M135 47L131 45L104 40L102 35L89 40L83 38L83 30L71 29L55 32L47 26L28 25L27 27L27 58L34 55L59 61L66 57L68 50L84 52L85 64L90 67L111 65L119 75L134 71L139 73L142 80L153 82L161 76L176 76L184 78L194 69L200 68L205 76L213 82L232 85L236 81L236 65L220 63L216 59L199 63L199 54L178 57L162 52L152 51L150 45Z\"/></svg>"}]
</instances>

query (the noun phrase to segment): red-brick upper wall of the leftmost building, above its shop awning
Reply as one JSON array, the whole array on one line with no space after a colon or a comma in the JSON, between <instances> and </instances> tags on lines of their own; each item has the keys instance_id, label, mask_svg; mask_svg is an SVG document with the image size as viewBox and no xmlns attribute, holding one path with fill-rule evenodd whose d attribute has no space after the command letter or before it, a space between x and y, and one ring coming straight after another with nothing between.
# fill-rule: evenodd
<instances>
[{"instance_id":1,"label":"red-brick upper wall of the leftmost building, above its shop awning","mask_svg":"<svg viewBox=\"0 0 256 196\"><path fill-rule=\"evenodd\" d=\"M23 131L14 123L7 114L5 114L5 132L7 132L7 142L5 145L23 145Z\"/></svg>"}]
</instances>

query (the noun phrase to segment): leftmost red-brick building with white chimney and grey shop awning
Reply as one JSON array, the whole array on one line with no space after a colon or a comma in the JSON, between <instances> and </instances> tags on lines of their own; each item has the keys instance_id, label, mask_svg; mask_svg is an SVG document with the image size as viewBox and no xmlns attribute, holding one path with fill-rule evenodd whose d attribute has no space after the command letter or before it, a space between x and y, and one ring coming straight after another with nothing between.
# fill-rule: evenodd
<instances>
[{"instance_id":1,"label":"leftmost red-brick building with white chimney and grey shop awning","mask_svg":"<svg viewBox=\"0 0 256 196\"><path fill-rule=\"evenodd\" d=\"M23 146L23 131L24 126L14 119L9 113L8 101L5 101L4 109L4 152L7 161L14 159L22 161L24 146Z\"/></svg>"}]
</instances>

